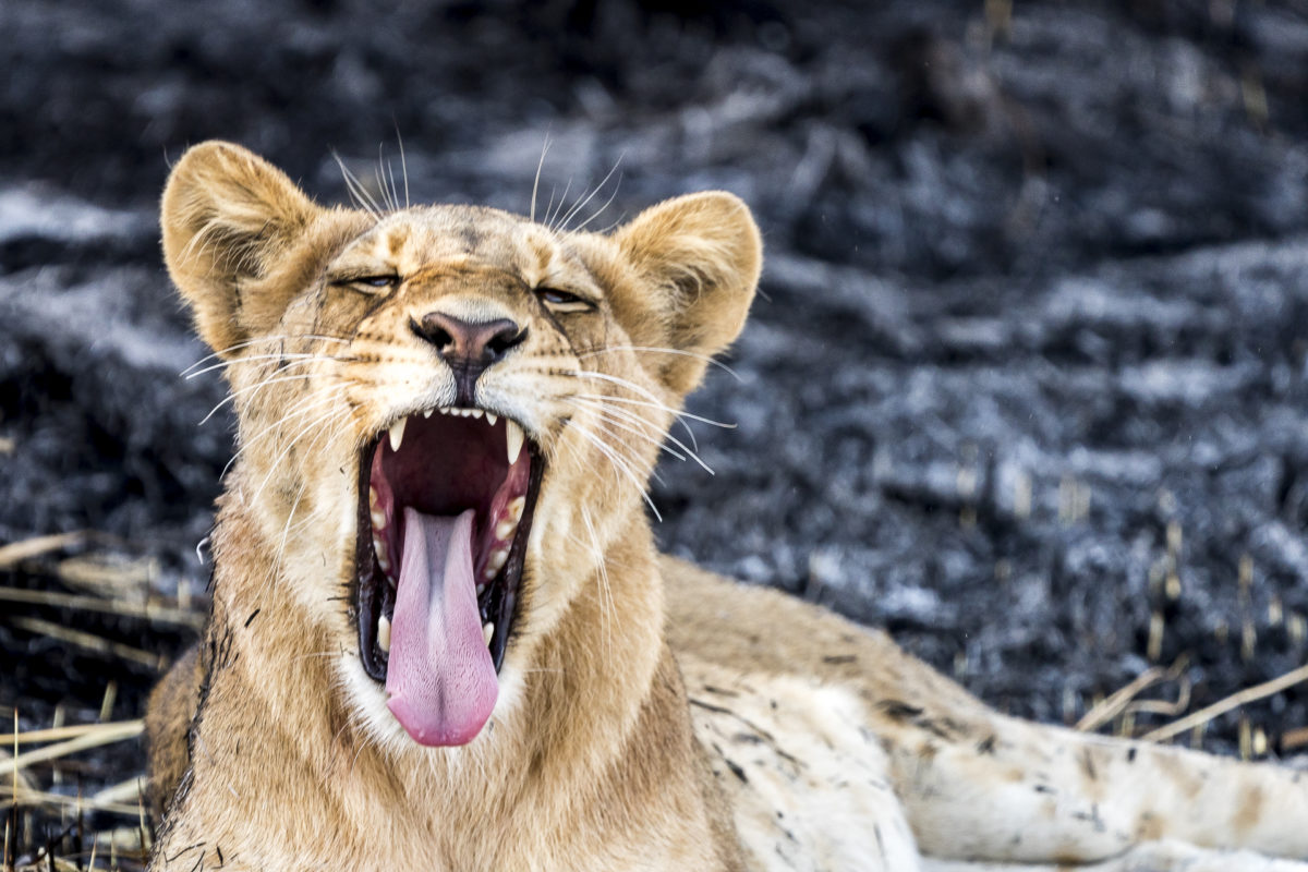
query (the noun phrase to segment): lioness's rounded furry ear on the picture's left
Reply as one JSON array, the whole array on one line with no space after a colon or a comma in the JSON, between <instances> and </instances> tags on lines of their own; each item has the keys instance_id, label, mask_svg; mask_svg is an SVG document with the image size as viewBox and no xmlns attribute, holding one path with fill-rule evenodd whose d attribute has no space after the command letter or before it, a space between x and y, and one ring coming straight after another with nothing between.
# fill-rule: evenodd
<instances>
[{"instance_id":1,"label":"lioness's rounded furry ear on the picture's left","mask_svg":"<svg viewBox=\"0 0 1308 872\"><path fill-rule=\"evenodd\" d=\"M230 143L187 150L164 188L164 259L208 345L235 346L275 328L292 288L254 288L323 210L286 175Z\"/></svg>"}]
</instances>

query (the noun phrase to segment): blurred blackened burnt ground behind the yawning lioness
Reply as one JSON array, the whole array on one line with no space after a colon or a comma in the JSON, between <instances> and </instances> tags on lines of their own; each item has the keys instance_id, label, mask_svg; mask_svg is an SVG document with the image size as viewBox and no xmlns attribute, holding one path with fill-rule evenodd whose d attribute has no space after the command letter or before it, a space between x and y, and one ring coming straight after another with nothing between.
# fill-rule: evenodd
<instances>
[{"instance_id":1,"label":"blurred blackened burnt ground behind the yawning lioness","mask_svg":"<svg viewBox=\"0 0 1308 872\"><path fill-rule=\"evenodd\" d=\"M1305 660L1303 0L29 0L0 33L0 543L110 537L0 560L0 584L203 588L232 428L198 426L216 374L178 375L205 350L153 212L187 144L343 200L334 152L398 174L403 136L415 200L525 212L548 140L543 200L619 167L574 224L722 187L764 229L734 375L689 407L738 426L697 430L714 476L662 467L668 550L887 626L1042 720L1154 664L1180 680L1146 696L1197 710ZM187 633L4 603L0 715L137 716ZM1304 727L1300 685L1188 739L1292 754ZM140 760L82 756L50 788Z\"/></svg>"}]
</instances>

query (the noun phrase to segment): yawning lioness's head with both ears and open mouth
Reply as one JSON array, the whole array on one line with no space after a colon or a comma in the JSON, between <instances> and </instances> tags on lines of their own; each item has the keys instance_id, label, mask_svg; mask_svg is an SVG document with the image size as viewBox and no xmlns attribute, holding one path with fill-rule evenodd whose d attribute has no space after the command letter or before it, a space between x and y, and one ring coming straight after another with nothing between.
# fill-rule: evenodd
<instances>
[{"instance_id":1,"label":"yawning lioness's head with both ears and open mouth","mask_svg":"<svg viewBox=\"0 0 1308 872\"><path fill-rule=\"evenodd\" d=\"M610 235L472 207L326 210L226 144L178 163L164 243L228 362L228 499L256 519L251 546L339 642L353 710L422 745L511 706L645 523L659 443L760 263L725 193Z\"/></svg>"}]
</instances>

